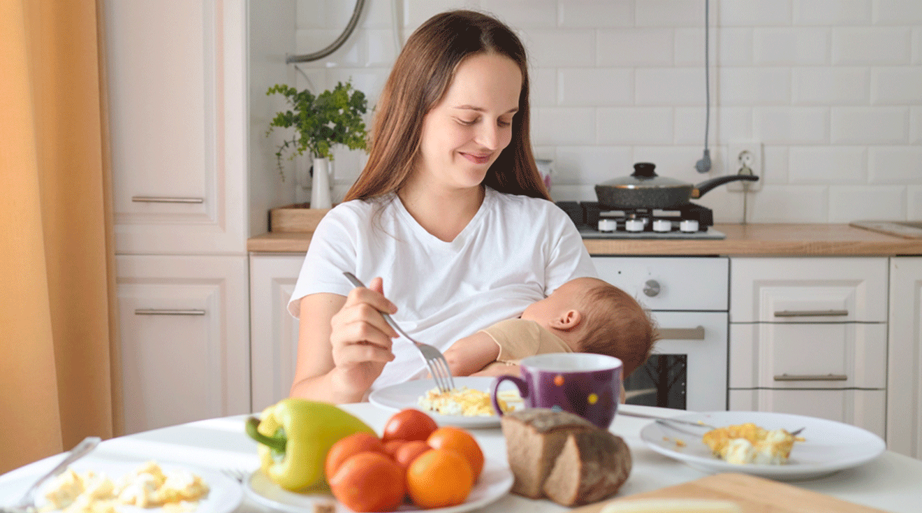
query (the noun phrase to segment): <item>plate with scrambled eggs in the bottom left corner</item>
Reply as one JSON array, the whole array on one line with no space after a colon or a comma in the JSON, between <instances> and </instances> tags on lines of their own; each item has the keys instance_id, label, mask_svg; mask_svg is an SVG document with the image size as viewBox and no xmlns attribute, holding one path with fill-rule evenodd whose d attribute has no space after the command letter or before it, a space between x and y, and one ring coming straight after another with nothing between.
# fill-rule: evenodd
<instances>
[{"instance_id":1,"label":"plate with scrambled eggs in the bottom left corner","mask_svg":"<svg viewBox=\"0 0 922 513\"><path fill-rule=\"evenodd\" d=\"M15 502L38 477L4 483L13 496L0 500ZM42 484L35 498L39 513L230 513L243 493L240 483L205 469L83 459Z\"/></svg>"}]
</instances>

